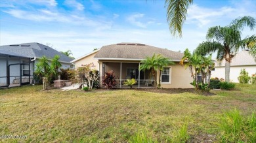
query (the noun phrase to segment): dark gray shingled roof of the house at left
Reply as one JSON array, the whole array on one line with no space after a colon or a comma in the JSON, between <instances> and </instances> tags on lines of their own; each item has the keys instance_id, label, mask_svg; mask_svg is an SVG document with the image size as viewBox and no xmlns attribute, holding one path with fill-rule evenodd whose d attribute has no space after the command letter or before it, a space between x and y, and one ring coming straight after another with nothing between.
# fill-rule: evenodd
<instances>
[{"instance_id":1,"label":"dark gray shingled roof of the house at left","mask_svg":"<svg viewBox=\"0 0 256 143\"><path fill-rule=\"evenodd\" d=\"M11 45L4 45L0 46L0 50L9 51L12 53L16 53L20 56L24 57L42 57L46 56L52 59L55 55L60 56L60 61L70 62L73 59L70 57L54 50L53 48L39 44L37 42L30 42L30 43L23 43L23 44L11 44Z\"/></svg>"}]
</instances>

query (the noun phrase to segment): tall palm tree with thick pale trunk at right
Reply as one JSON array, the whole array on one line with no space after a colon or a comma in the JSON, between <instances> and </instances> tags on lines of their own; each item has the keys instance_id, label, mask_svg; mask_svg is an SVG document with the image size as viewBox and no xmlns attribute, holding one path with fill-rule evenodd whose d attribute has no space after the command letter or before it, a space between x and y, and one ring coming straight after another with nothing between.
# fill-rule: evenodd
<instances>
[{"instance_id":1,"label":"tall palm tree with thick pale trunk at right","mask_svg":"<svg viewBox=\"0 0 256 143\"><path fill-rule=\"evenodd\" d=\"M205 56L217 52L217 60L225 59L225 81L229 82L230 62L236 56L240 48L245 48L251 43L252 37L241 39L242 30L247 26L251 30L255 27L255 19L251 16L244 16L233 20L230 25L225 27L210 27L207 31L206 39L196 48L197 54Z\"/></svg>"}]
</instances>

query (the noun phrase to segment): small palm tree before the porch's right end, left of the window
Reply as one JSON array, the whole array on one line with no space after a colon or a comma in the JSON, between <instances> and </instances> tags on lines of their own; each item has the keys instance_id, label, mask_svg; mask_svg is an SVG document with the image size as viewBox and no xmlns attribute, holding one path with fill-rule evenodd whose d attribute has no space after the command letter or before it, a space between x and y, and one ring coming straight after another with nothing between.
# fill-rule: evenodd
<instances>
[{"instance_id":1,"label":"small palm tree before the porch's right end, left of the window","mask_svg":"<svg viewBox=\"0 0 256 143\"><path fill-rule=\"evenodd\" d=\"M154 80L158 86L161 87L161 71L163 71L164 67L168 65L174 65L175 63L171 61L171 59L167 57L163 57L160 54L154 54L152 57L146 57L146 59L141 61L140 71L150 70L150 75L154 76ZM159 80L156 78L156 70L160 71Z\"/></svg>"}]
</instances>

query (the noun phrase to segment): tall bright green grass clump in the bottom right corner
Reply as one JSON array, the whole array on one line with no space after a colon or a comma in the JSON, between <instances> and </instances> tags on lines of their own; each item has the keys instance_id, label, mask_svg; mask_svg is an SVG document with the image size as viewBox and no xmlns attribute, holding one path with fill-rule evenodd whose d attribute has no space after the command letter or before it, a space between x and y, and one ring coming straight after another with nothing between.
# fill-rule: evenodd
<instances>
[{"instance_id":1,"label":"tall bright green grass clump in the bottom right corner","mask_svg":"<svg viewBox=\"0 0 256 143\"><path fill-rule=\"evenodd\" d=\"M219 123L221 142L255 142L256 117L253 112L248 118L236 109L225 112Z\"/></svg>"}]
</instances>

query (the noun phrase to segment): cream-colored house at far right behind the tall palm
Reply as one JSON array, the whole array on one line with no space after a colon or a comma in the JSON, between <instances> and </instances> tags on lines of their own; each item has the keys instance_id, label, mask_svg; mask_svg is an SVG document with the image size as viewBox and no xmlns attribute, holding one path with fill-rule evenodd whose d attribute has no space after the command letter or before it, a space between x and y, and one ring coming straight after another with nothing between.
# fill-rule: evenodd
<instances>
[{"instance_id":1,"label":"cream-colored house at far right behind the tall palm","mask_svg":"<svg viewBox=\"0 0 256 143\"><path fill-rule=\"evenodd\" d=\"M256 62L253 56L249 54L249 51L243 50L238 52L236 56L232 59L230 63L230 82L239 82L238 76L240 75L241 69L245 69L251 74L256 72ZM221 63L215 62L215 71L211 71L211 77L223 78L225 79L225 61Z\"/></svg>"}]
</instances>

